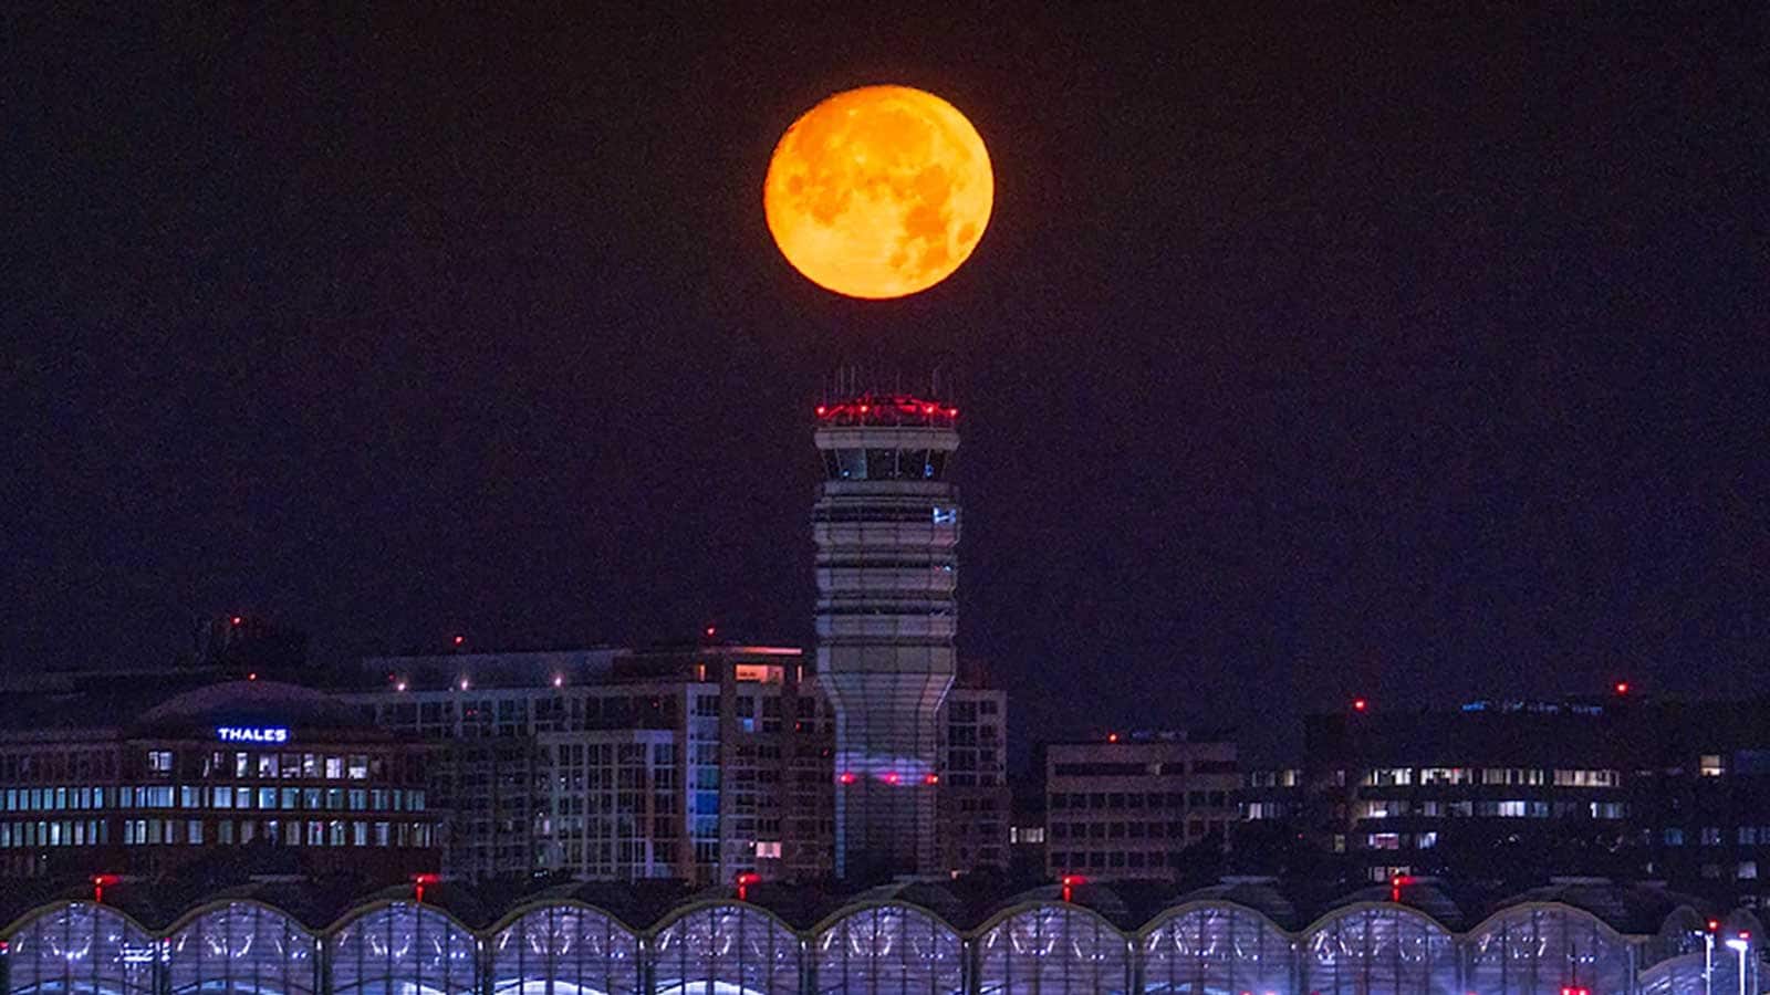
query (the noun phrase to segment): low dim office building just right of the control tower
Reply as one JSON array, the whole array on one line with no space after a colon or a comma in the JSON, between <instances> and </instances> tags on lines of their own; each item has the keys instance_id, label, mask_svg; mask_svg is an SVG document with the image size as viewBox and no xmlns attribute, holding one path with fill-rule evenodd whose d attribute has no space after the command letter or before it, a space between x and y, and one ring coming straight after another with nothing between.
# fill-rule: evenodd
<instances>
[{"instance_id":1,"label":"low dim office building just right of the control tower","mask_svg":"<svg viewBox=\"0 0 1770 995\"><path fill-rule=\"evenodd\" d=\"M1050 744L1046 873L1179 880L1188 850L1228 846L1239 788L1235 744L1223 735L1113 733Z\"/></svg>"}]
</instances>

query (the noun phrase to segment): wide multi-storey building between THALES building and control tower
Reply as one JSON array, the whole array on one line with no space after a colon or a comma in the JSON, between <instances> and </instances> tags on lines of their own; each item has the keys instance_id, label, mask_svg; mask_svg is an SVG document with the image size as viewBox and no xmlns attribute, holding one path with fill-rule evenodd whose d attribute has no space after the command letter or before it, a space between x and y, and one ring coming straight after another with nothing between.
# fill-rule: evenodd
<instances>
[{"instance_id":1,"label":"wide multi-storey building between THALES building and control tower","mask_svg":"<svg viewBox=\"0 0 1770 995\"><path fill-rule=\"evenodd\" d=\"M442 745L444 871L588 880L832 869L832 721L804 652L381 657L375 722Z\"/></svg>"}]
</instances>

